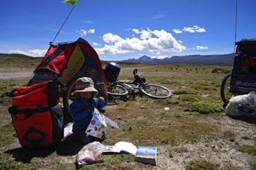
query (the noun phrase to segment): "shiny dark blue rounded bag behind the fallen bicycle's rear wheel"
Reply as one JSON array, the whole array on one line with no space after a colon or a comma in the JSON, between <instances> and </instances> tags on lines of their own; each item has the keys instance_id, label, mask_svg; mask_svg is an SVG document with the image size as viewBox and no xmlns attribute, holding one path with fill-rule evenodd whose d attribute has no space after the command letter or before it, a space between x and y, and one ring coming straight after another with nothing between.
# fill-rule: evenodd
<instances>
[{"instance_id":1,"label":"shiny dark blue rounded bag behind the fallen bicycle's rear wheel","mask_svg":"<svg viewBox=\"0 0 256 170\"><path fill-rule=\"evenodd\" d=\"M118 65L118 63L108 63L104 69L107 82L114 83L118 79L120 70L120 65Z\"/></svg>"}]
</instances>

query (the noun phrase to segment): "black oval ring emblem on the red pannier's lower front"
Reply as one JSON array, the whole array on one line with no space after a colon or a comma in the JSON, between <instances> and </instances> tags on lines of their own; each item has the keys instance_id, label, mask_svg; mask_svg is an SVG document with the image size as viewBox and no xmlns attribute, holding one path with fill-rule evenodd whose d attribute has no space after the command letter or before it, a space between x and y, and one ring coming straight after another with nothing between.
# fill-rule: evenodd
<instances>
[{"instance_id":1,"label":"black oval ring emblem on the red pannier's lower front","mask_svg":"<svg viewBox=\"0 0 256 170\"><path fill-rule=\"evenodd\" d=\"M31 139L29 138L30 134L39 134L40 138L39 139ZM40 131L39 129L35 129L31 127L26 131L26 133L23 135L23 138L27 141L33 144L33 147L37 147L41 142L43 142L46 139L46 134L44 134L43 131Z\"/></svg>"}]
</instances>

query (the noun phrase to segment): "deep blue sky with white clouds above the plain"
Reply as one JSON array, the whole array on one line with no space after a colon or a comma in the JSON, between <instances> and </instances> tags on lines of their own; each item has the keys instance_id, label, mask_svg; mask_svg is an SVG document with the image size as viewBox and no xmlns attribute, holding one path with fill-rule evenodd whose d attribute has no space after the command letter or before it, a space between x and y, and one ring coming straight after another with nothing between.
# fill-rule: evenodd
<instances>
[{"instance_id":1,"label":"deep blue sky with white clouds above the plain","mask_svg":"<svg viewBox=\"0 0 256 170\"><path fill-rule=\"evenodd\" d=\"M0 53L44 56L73 6L1 2ZM256 38L256 1L237 0L237 41ZM234 51L235 0L79 0L55 43L82 37L101 60Z\"/></svg>"}]
</instances>

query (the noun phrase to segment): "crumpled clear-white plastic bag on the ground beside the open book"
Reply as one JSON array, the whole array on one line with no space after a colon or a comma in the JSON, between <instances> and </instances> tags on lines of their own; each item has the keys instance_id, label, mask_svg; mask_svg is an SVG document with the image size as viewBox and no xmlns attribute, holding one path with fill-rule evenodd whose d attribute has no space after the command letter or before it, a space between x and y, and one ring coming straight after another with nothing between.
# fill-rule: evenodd
<instances>
[{"instance_id":1,"label":"crumpled clear-white plastic bag on the ground beside the open book","mask_svg":"<svg viewBox=\"0 0 256 170\"><path fill-rule=\"evenodd\" d=\"M77 153L75 162L77 164L93 164L98 160L104 149L105 146L100 142L91 142Z\"/></svg>"}]
</instances>

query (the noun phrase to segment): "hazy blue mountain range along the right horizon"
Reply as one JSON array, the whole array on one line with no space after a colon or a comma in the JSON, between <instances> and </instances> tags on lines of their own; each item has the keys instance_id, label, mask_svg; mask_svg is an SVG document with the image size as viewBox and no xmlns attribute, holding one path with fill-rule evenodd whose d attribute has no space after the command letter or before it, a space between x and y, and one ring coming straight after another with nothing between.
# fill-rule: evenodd
<instances>
[{"instance_id":1,"label":"hazy blue mountain range along the right horizon","mask_svg":"<svg viewBox=\"0 0 256 170\"><path fill-rule=\"evenodd\" d=\"M141 56L139 59L128 59L122 63L145 63L145 64L170 64L183 63L195 65L232 65L235 54L212 54L212 55L190 55L172 56L165 59L152 59L149 56Z\"/></svg>"}]
</instances>

